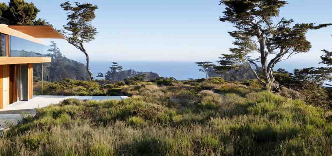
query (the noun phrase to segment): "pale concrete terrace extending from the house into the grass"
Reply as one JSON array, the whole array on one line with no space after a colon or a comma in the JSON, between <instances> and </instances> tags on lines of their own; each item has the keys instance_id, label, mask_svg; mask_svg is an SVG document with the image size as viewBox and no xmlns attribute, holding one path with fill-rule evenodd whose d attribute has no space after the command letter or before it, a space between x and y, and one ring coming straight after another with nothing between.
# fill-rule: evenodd
<instances>
[{"instance_id":1,"label":"pale concrete terrace extending from the house into the grass","mask_svg":"<svg viewBox=\"0 0 332 156\"><path fill-rule=\"evenodd\" d=\"M48 96L39 95L33 96L29 101L18 101L9 107L0 109L0 128L6 127L5 122L13 122L17 124L21 120L21 113L26 112L35 114L35 108L47 107L51 104L58 104L65 99L79 99L79 100L123 100L128 98L127 96Z\"/></svg>"}]
</instances>

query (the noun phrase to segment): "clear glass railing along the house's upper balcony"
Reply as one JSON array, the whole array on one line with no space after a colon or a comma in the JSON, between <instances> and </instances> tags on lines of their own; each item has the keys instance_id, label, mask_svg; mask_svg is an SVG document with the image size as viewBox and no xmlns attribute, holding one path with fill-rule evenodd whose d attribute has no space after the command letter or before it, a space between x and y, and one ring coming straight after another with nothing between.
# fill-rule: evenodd
<instances>
[{"instance_id":1,"label":"clear glass railing along the house's upper balcony","mask_svg":"<svg viewBox=\"0 0 332 156\"><path fill-rule=\"evenodd\" d=\"M9 36L10 57L51 57L49 46Z\"/></svg>"}]
</instances>

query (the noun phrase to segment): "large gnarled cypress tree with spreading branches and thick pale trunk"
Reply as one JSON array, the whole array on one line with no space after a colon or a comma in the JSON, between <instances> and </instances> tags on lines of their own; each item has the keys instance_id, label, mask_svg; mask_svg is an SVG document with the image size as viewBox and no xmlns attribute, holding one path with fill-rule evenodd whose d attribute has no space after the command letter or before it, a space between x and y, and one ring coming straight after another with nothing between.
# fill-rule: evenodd
<instances>
[{"instance_id":1,"label":"large gnarled cypress tree with spreading branches and thick pale trunk","mask_svg":"<svg viewBox=\"0 0 332 156\"><path fill-rule=\"evenodd\" d=\"M308 30L330 26L331 24L315 25L314 23L295 24L292 19L278 20L280 8L287 4L282 0L221 0L220 5L226 6L222 22L234 24L236 31L229 32L235 38L236 48L231 48L231 54L222 54L218 62L219 69L237 68L244 62L262 66L264 81L256 74L257 79L270 90L275 86L273 68L285 59L298 53L306 53L311 44L306 39ZM259 54L252 57L253 53ZM271 61L268 58L274 55Z\"/></svg>"}]
</instances>

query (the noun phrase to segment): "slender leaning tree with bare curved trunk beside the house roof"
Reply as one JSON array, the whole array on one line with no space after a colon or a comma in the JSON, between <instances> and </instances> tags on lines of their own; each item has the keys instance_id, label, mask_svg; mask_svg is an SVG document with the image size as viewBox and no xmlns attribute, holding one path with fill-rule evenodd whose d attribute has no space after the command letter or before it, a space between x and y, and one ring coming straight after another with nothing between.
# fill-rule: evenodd
<instances>
[{"instance_id":1,"label":"slender leaning tree with bare curved trunk beside the house roof","mask_svg":"<svg viewBox=\"0 0 332 156\"><path fill-rule=\"evenodd\" d=\"M86 68L91 80L93 80L93 75L90 71L89 55L83 44L94 40L98 33L97 29L91 24L96 17L95 11L98 7L91 3L80 4L78 2L75 2L75 5L71 5L67 1L61 4L61 8L68 12L68 23L63 26L65 30L59 30L59 32L64 35L68 43L85 54Z\"/></svg>"}]
</instances>

